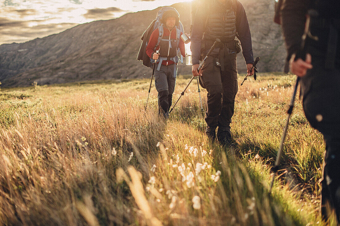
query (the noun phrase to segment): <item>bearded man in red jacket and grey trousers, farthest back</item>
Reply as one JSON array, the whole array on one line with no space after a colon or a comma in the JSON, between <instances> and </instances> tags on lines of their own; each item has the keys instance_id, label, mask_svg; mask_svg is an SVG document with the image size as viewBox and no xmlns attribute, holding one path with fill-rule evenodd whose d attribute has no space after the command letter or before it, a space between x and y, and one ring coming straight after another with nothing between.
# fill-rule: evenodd
<instances>
[{"instance_id":1,"label":"bearded man in red jacket and grey trousers, farthest back","mask_svg":"<svg viewBox=\"0 0 340 226\"><path fill-rule=\"evenodd\" d=\"M183 57L185 53L184 42L180 38L183 33L175 28L175 25L179 23L177 14L174 11L167 11L161 22L163 22L163 38L156 47L158 38L161 37L159 37L159 28L155 29L150 36L146 53L153 60L157 60L155 86L158 92L158 113L164 118L168 118L172 93L176 84L177 63L179 62L177 53L180 50ZM157 50L159 50L158 54Z\"/></svg>"}]
</instances>

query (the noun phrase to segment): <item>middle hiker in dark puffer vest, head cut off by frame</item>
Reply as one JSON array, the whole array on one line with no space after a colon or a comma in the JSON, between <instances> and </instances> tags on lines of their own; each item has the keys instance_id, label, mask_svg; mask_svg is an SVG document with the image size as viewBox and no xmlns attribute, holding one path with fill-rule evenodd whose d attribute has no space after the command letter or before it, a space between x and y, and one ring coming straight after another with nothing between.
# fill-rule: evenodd
<instances>
[{"instance_id":1,"label":"middle hiker in dark puffer vest, head cut off by frame","mask_svg":"<svg viewBox=\"0 0 340 226\"><path fill-rule=\"evenodd\" d=\"M215 140L218 127L217 139L223 145L231 141L230 123L238 90L236 36L241 41L247 72L253 75L252 39L243 5L237 0L210 0L199 5L191 35L192 74L201 75L200 84L208 92L205 133ZM199 59L206 56L217 38L223 46L212 52L198 73Z\"/></svg>"}]
</instances>

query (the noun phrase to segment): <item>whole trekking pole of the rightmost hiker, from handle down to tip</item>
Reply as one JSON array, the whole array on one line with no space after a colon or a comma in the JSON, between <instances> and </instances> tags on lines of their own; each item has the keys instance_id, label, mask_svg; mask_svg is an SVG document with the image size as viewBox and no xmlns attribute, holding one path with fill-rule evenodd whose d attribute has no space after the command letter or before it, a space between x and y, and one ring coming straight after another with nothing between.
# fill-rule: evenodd
<instances>
[{"instance_id":1,"label":"whole trekking pole of the rightmost hiker, from handle down to tip","mask_svg":"<svg viewBox=\"0 0 340 226\"><path fill-rule=\"evenodd\" d=\"M306 57L305 44L306 44L307 36L309 38L311 38L311 39L318 40L318 37L312 36L311 33L310 33L310 19L311 19L311 17L317 16L317 15L318 15L318 13L315 10L309 10L308 11L307 18L306 18L306 23L305 23L305 31L304 31L304 34L301 37L301 46L300 46L300 49L298 50L298 52L296 53L295 60L298 59L298 58L301 58L301 59L305 60L305 57ZM277 152L275 166L272 168L272 170L274 171L274 174L273 174L272 182L271 182L271 185L270 185L269 193L271 193L271 191L272 191L274 180L275 180L275 174L276 174L276 172L279 169L280 159L281 159L282 150L283 150L283 143L285 142L285 138L286 138L286 135L287 135L287 128L288 128L288 125L289 125L289 118L290 118L290 116L292 114L292 111L293 111L294 100L295 100L297 86L299 85L299 81L300 81L300 77L296 77L296 82L295 82L293 96L292 96L292 99L290 101L289 109L287 111L288 116L287 116L286 127L285 127L285 130L284 130L283 134L282 134L280 149Z\"/></svg>"}]
</instances>

